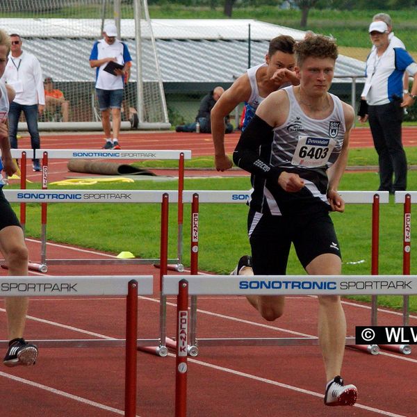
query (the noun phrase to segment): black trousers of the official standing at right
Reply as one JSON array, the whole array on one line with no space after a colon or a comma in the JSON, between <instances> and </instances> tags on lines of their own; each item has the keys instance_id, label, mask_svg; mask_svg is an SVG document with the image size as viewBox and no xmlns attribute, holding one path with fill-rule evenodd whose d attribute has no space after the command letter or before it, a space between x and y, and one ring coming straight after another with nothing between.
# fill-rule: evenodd
<instances>
[{"instance_id":1,"label":"black trousers of the official standing at right","mask_svg":"<svg viewBox=\"0 0 417 417\"><path fill-rule=\"evenodd\" d=\"M400 103L368 106L370 131L379 160L378 190L391 193L407 188L407 158L401 139L404 109Z\"/></svg>"}]
</instances>

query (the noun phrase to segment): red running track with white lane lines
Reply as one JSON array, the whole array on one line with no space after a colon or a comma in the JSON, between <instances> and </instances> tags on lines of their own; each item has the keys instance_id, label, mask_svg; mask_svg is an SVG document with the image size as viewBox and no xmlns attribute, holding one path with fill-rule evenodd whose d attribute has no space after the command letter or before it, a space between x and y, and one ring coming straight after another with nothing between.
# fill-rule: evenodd
<instances>
[{"instance_id":1,"label":"red running track with white lane lines","mask_svg":"<svg viewBox=\"0 0 417 417\"><path fill-rule=\"evenodd\" d=\"M366 133L363 129L361 131ZM78 134L69 138L72 139L43 136L42 147L87 149L99 147L102 141L100 135ZM154 143L147 142L147 138ZM121 142L126 148L129 142L130 149L185 147L192 149L195 155L204 155L204 150L194 150L195 145L190 140L209 140L209 136L193 133L181 143L177 138L177 133L126 133ZM79 145L80 139L88 142ZM25 147L25 140L20 141L21 147ZM228 136L227 140L228 147L234 146L232 142L237 140L237 136ZM363 135L361 145L365 142L366 135ZM211 147L211 143L204 145ZM38 175L33 174L35 179ZM39 243L28 240L28 246L31 259L37 261ZM91 254L82 248L59 244L49 244L48 253L49 257L56 258L114 256ZM51 266L48 275L93 273L152 273L157 283L159 272L153 267L135 265L99 266L94 270L85 266ZM124 338L124 305L120 297L32 299L26 338ZM1 325L6 329L3 305L1 307ZM152 297L140 297L139 338L158 337L158 308L158 293ZM348 334L354 334L354 325L369 324L368 305L345 300L344 308ZM174 335L174 310L175 300L170 298L167 305L167 333L170 336ZM198 334L199 337L314 336L317 334L316 317L317 301L314 297L288 297L286 314L276 322L261 320L243 297L199 297ZM379 324L382 323L400 325L401 318L393 311L379 311ZM417 316L411 316L410 324L417 325ZM139 353L138 416L174 416L174 366L172 356L158 358ZM33 368L1 368L0 416L122 415L123 375L122 348L42 349ZM347 383L358 386L358 403L353 408L334 409L322 404L325 377L317 346L204 347L199 357L189 359L188 415L417 416L416 350L408 357L389 352L375 357L347 349L343 377Z\"/></svg>"}]
</instances>

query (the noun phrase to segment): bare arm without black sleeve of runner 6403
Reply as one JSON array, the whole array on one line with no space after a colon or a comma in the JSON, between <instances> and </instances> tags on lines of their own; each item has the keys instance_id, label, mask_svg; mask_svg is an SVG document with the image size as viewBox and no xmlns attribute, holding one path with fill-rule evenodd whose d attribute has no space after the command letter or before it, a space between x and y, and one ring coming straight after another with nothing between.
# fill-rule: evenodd
<instances>
[{"instance_id":1,"label":"bare arm without black sleeve of runner 6403","mask_svg":"<svg viewBox=\"0 0 417 417\"><path fill-rule=\"evenodd\" d=\"M327 175L329 177L329 190L327 191L327 198L329 199L329 204L332 207L332 211L345 211L345 202L338 194L338 185L341 181L343 172L345 172L345 167L347 165L347 156L349 153L349 138L350 131L354 123L354 111L352 106L342 102L343 113L345 114L345 127L346 133L343 140L343 147L341 154L336 159L336 162L332 167L327 170Z\"/></svg>"}]
</instances>

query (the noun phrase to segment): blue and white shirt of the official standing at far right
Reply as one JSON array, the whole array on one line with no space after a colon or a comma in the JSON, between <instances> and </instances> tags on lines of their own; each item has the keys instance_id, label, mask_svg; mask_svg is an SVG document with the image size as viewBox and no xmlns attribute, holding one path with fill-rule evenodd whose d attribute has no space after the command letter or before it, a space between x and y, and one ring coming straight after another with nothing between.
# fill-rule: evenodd
<instances>
[{"instance_id":1,"label":"blue and white shirt of the official standing at far right","mask_svg":"<svg viewBox=\"0 0 417 417\"><path fill-rule=\"evenodd\" d=\"M366 60L366 82L362 97L370 106L389 104L395 97L402 97L404 72L414 76L417 64L402 48L393 47L391 42L382 56L373 49Z\"/></svg>"}]
</instances>

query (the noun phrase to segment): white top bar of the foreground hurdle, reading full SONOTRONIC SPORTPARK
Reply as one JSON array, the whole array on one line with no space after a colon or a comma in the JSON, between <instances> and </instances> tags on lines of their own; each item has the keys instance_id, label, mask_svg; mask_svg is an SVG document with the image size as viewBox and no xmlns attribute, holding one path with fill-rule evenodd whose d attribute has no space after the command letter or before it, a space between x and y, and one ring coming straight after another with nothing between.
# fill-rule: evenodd
<instances>
[{"instance_id":1,"label":"white top bar of the foreground hurdle, reading full SONOTRONIC SPORTPARK","mask_svg":"<svg viewBox=\"0 0 417 417\"><path fill-rule=\"evenodd\" d=\"M414 295L417 275L164 275L163 295Z\"/></svg>"}]
</instances>

